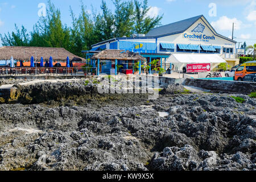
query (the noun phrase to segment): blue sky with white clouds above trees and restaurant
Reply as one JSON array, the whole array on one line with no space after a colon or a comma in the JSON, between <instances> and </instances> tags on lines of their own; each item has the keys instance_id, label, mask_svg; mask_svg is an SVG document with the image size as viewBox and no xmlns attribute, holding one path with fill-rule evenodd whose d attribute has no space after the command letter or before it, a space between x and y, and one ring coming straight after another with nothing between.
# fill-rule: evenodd
<instances>
[{"instance_id":1,"label":"blue sky with white clouds above trees and restaurant","mask_svg":"<svg viewBox=\"0 0 256 182\"><path fill-rule=\"evenodd\" d=\"M79 14L81 0L52 0L61 11L63 23L71 25L69 6ZM142 0L141 0L142 1ZM38 21L38 7L47 0L0 0L0 34L14 31L14 23L23 24L28 31ZM92 6L100 11L101 0L82 0L88 12ZM106 0L113 9L111 0ZM164 14L162 24L191 18L203 14L219 34L231 38L232 23L234 37L247 45L256 43L256 0L148 0L151 10L148 16ZM1 43L0 43L1 44Z\"/></svg>"}]
</instances>

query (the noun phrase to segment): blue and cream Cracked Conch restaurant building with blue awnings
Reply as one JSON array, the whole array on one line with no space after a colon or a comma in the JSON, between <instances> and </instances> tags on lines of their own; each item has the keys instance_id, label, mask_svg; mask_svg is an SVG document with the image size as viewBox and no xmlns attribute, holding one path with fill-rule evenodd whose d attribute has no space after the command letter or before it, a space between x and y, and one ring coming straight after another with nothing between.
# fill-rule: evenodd
<instances>
[{"instance_id":1,"label":"blue and cream Cracked Conch restaurant building with blue awnings","mask_svg":"<svg viewBox=\"0 0 256 182\"><path fill-rule=\"evenodd\" d=\"M236 55L236 41L220 35L203 16L181 20L153 28L146 35L113 38L92 45L90 51L83 51L90 58L104 49L121 49L138 52L146 58L148 63L152 59L159 59L163 67L165 61L172 54L204 54L218 55L230 66L239 64ZM141 49L135 45L143 44ZM176 67L176 70L181 69Z\"/></svg>"}]
</instances>

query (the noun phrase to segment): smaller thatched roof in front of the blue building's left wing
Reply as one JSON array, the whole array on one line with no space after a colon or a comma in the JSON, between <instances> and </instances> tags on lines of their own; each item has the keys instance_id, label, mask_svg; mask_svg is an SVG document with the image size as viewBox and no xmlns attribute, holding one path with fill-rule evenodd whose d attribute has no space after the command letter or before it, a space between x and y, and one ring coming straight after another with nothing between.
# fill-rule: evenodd
<instances>
[{"instance_id":1,"label":"smaller thatched roof in front of the blue building's left wing","mask_svg":"<svg viewBox=\"0 0 256 182\"><path fill-rule=\"evenodd\" d=\"M123 52L123 53L121 53ZM92 56L90 59L100 59L100 60L126 60L126 61L139 61L139 60L146 60L146 58L142 57L138 53L130 52L130 51L123 51L123 50L116 50L116 49L105 49L97 53L96 55Z\"/></svg>"}]
</instances>

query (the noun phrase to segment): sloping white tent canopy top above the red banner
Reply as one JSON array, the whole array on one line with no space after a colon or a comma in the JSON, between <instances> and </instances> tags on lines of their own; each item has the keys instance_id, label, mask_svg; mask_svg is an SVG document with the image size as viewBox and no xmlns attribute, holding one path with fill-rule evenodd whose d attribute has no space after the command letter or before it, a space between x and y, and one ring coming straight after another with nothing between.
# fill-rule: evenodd
<instances>
[{"instance_id":1,"label":"sloping white tent canopy top above the red banner","mask_svg":"<svg viewBox=\"0 0 256 182\"><path fill-rule=\"evenodd\" d=\"M216 54L174 53L168 57L166 63L226 63L226 61Z\"/></svg>"}]
</instances>

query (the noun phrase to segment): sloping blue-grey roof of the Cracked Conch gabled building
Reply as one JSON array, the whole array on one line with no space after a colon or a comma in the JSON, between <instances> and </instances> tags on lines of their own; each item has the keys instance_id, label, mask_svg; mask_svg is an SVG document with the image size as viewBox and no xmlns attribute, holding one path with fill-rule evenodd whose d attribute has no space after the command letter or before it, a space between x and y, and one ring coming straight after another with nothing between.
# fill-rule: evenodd
<instances>
[{"instance_id":1,"label":"sloping blue-grey roof of the Cracked Conch gabled building","mask_svg":"<svg viewBox=\"0 0 256 182\"><path fill-rule=\"evenodd\" d=\"M162 36L168 34L175 34L177 32L184 32L189 27L192 26L198 19L200 19L203 15L195 16L193 18L181 20L179 22L167 24L161 27L153 28L149 31L146 36Z\"/></svg>"}]
</instances>

